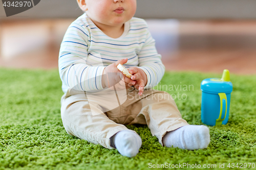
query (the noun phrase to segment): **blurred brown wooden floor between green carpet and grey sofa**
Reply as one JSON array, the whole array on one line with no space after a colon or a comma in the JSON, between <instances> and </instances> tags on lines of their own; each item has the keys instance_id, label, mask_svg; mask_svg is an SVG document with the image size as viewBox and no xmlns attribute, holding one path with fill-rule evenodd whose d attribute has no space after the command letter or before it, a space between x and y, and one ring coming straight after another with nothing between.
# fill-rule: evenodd
<instances>
[{"instance_id":1,"label":"blurred brown wooden floor between green carpet and grey sofa","mask_svg":"<svg viewBox=\"0 0 256 170\"><path fill-rule=\"evenodd\" d=\"M0 22L0 66L58 68L73 19ZM256 74L256 21L148 19L166 70Z\"/></svg>"}]
</instances>

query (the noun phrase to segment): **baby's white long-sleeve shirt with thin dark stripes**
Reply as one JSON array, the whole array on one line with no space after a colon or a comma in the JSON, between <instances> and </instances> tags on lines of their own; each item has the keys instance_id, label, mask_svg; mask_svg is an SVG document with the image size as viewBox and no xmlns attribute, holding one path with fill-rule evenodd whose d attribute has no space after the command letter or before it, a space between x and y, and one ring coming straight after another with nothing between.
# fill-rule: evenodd
<instances>
[{"instance_id":1,"label":"baby's white long-sleeve shirt with thin dark stripes","mask_svg":"<svg viewBox=\"0 0 256 170\"><path fill-rule=\"evenodd\" d=\"M144 19L133 17L124 23L119 38L111 38L84 13L71 23L60 45L58 66L62 91L102 90L104 67L123 58L128 58L123 64L126 68L136 66L146 73L145 89L162 79L165 67Z\"/></svg>"}]
</instances>

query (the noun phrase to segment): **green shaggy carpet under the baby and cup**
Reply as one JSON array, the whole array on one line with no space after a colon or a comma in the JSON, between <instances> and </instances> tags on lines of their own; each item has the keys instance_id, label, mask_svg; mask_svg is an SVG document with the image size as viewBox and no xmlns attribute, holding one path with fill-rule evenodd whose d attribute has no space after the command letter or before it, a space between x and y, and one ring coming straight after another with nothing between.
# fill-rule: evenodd
<instances>
[{"instance_id":1,"label":"green shaggy carpet under the baby and cup","mask_svg":"<svg viewBox=\"0 0 256 170\"><path fill-rule=\"evenodd\" d=\"M175 100L183 118L189 124L203 125L200 83L211 77L221 78L221 74L166 72L159 85L182 85L182 89L176 90L174 86L174 90L162 90L183 94L185 100L181 95L180 100L178 95ZM188 151L162 147L147 126L133 125L127 128L140 135L142 146L136 157L127 158L117 150L67 134L60 117L63 92L57 69L0 68L0 169L152 169L157 164L167 167L165 163L170 168L162 165L162 169L181 169L177 165L172 168L172 164L174 167L179 163L190 164L190 167L200 164L202 169L204 164L212 166L207 169L219 169L223 163L222 169L246 169L245 165L255 169L256 76L231 74L230 79L233 92L229 122L220 127L208 126L211 141L207 149ZM193 85L194 90L190 86L186 91L183 85ZM228 163L234 164L229 168Z\"/></svg>"}]
</instances>

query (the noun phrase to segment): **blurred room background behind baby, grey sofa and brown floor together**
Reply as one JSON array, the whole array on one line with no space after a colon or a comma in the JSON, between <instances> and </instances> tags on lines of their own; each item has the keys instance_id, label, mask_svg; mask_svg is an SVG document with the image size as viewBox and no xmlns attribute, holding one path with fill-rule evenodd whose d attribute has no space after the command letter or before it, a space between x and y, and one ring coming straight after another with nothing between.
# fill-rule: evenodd
<instances>
[{"instance_id":1,"label":"blurred room background behind baby, grey sofa and brown floor together","mask_svg":"<svg viewBox=\"0 0 256 170\"><path fill-rule=\"evenodd\" d=\"M96 1L96 0L95 0ZM166 70L256 74L255 0L137 0ZM82 15L75 0L42 0L6 17L0 6L0 67L58 68L60 43Z\"/></svg>"}]
</instances>

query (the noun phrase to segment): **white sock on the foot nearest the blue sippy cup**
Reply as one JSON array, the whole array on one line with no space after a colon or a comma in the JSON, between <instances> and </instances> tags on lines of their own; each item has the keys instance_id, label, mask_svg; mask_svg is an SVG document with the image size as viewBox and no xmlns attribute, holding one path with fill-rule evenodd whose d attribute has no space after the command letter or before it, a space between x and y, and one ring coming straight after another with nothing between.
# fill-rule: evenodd
<instances>
[{"instance_id":1,"label":"white sock on the foot nearest the blue sippy cup","mask_svg":"<svg viewBox=\"0 0 256 170\"><path fill-rule=\"evenodd\" d=\"M167 132L162 142L166 147L173 145L174 148L186 150L205 149L210 143L209 129L204 125L183 126Z\"/></svg>"}]
</instances>

